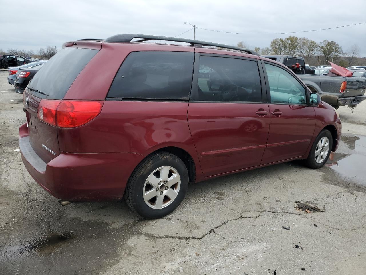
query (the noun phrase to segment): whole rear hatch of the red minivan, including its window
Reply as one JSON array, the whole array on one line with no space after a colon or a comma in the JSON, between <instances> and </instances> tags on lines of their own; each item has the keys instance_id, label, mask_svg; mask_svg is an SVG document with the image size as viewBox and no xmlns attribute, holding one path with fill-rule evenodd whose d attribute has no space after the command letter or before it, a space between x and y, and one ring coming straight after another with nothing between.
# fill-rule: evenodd
<instances>
[{"instance_id":1,"label":"whole rear hatch of the red minivan, including its window","mask_svg":"<svg viewBox=\"0 0 366 275\"><path fill-rule=\"evenodd\" d=\"M29 142L44 161L60 154L56 108L96 49L64 48L33 77L23 94L28 121Z\"/></svg>"}]
</instances>

